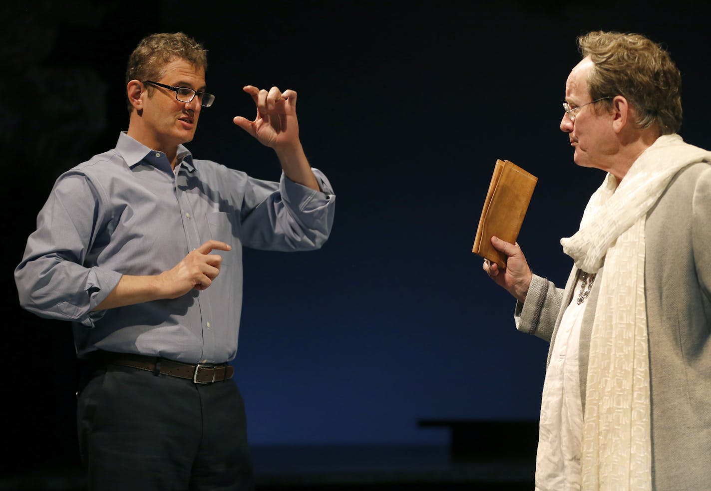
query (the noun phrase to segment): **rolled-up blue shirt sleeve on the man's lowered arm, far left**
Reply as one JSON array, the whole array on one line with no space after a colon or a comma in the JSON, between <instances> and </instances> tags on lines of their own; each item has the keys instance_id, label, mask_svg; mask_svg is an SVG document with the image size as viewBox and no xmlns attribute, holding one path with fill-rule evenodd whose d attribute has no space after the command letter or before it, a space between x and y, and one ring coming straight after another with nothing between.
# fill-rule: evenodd
<instances>
[{"instance_id":1,"label":"rolled-up blue shirt sleeve on the man's lowered arm, far left","mask_svg":"<svg viewBox=\"0 0 711 491\"><path fill-rule=\"evenodd\" d=\"M37 217L15 282L21 306L41 317L72 320L93 327L103 311L92 313L121 279L116 271L87 261L105 217L101 193L87 176L61 176Z\"/></svg>"}]
</instances>

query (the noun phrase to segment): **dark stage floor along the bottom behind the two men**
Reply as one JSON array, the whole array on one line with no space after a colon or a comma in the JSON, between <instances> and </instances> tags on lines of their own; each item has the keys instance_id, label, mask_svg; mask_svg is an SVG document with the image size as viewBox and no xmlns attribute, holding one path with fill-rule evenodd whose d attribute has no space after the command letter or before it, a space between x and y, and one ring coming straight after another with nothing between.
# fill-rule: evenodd
<instances>
[{"instance_id":1,"label":"dark stage floor along the bottom behind the two men","mask_svg":"<svg viewBox=\"0 0 711 491\"><path fill-rule=\"evenodd\" d=\"M257 490L533 489L535 455L454 460L448 446L255 446ZM80 468L0 477L0 490L84 490Z\"/></svg>"}]
</instances>

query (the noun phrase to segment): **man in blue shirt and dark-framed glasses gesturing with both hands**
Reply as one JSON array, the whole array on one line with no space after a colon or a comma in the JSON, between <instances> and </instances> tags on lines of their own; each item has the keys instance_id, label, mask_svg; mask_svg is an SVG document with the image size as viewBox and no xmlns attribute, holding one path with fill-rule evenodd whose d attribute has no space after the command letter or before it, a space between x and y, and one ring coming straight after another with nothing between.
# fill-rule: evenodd
<instances>
[{"instance_id":1,"label":"man in blue shirt and dark-framed glasses gesturing with both hands","mask_svg":"<svg viewBox=\"0 0 711 491\"><path fill-rule=\"evenodd\" d=\"M274 149L279 183L194 159L203 47L154 34L129 58L129 128L64 173L15 271L24 308L73 322L87 362L77 426L91 489L248 490L237 351L242 247L305 250L331 231L335 196L299 139L296 92L244 87L237 126Z\"/></svg>"}]
</instances>

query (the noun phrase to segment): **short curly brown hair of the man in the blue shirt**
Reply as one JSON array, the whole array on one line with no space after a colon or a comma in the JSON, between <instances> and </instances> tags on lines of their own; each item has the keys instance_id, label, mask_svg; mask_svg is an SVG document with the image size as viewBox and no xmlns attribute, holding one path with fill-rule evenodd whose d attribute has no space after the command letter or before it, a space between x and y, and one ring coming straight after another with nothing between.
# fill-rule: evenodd
<instances>
[{"instance_id":1,"label":"short curly brown hair of the man in the blue shirt","mask_svg":"<svg viewBox=\"0 0 711 491\"><path fill-rule=\"evenodd\" d=\"M166 65L176 58L187 60L197 68L208 70L208 50L193 38L183 33L151 34L141 39L129 56L126 67L126 83L131 80L159 80ZM149 94L153 86L149 85ZM128 102L129 114L133 110Z\"/></svg>"}]
</instances>

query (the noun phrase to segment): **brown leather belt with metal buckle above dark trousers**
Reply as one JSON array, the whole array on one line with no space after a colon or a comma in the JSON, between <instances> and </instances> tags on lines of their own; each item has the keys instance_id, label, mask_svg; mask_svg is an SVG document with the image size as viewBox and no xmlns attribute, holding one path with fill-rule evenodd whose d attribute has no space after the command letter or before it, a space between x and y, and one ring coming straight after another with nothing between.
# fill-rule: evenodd
<instances>
[{"instance_id":1,"label":"brown leather belt with metal buckle above dark trousers","mask_svg":"<svg viewBox=\"0 0 711 491\"><path fill-rule=\"evenodd\" d=\"M161 357L134 355L132 353L114 353L108 351L97 352L92 355L91 361L102 365L119 365L146 370L154 374L170 375L181 379L192 380L195 384L212 384L229 380L235 369L227 363L214 365L212 363L173 362Z\"/></svg>"}]
</instances>

